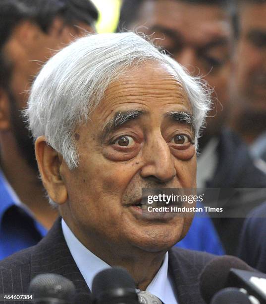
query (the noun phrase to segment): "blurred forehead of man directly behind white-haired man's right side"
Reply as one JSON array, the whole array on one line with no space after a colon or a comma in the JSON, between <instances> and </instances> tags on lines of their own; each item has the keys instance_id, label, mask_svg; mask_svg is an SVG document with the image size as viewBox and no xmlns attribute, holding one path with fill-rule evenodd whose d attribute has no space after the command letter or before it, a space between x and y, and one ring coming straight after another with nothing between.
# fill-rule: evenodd
<instances>
[{"instance_id":1,"label":"blurred forehead of man directly behind white-haired man's right side","mask_svg":"<svg viewBox=\"0 0 266 304\"><path fill-rule=\"evenodd\" d=\"M204 45L213 39L228 38L232 33L228 14L218 5L148 0L141 9L139 25L151 31L154 26L170 29L185 42Z\"/></svg>"}]
</instances>

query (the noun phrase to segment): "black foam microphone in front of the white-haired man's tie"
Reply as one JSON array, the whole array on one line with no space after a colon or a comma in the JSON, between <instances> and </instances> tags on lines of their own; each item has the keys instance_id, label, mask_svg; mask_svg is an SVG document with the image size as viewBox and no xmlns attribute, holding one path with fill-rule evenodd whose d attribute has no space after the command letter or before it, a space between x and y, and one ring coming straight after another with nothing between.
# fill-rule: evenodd
<instances>
[{"instance_id":1,"label":"black foam microphone in front of the white-haired man's tie","mask_svg":"<svg viewBox=\"0 0 266 304\"><path fill-rule=\"evenodd\" d=\"M135 282L121 267L99 272L93 279L92 299L94 304L138 304Z\"/></svg>"}]
</instances>

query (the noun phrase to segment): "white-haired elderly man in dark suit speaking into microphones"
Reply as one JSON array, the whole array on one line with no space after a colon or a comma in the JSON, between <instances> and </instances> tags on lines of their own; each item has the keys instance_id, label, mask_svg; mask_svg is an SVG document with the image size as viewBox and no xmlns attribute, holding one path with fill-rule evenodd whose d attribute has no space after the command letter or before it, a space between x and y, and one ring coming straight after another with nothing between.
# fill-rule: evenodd
<instances>
[{"instance_id":1,"label":"white-haired elderly man in dark suit speaking into microphones","mask_svg":"<svg viewBox=\"0 0 266 304\"><path fill-rule=\"evenodd\" d=\"M196 187L209 106L198 80L133 33L88 36L56 54L26 115L62 219L38 245L0 262L0 290L27 290L30 278L52 272L88 292L98 271L120 265L164 304L204 303L198 277L213 256L170 249L192 218L147 218L140 199L142 187Z\"/></svg>"}]
</instances>

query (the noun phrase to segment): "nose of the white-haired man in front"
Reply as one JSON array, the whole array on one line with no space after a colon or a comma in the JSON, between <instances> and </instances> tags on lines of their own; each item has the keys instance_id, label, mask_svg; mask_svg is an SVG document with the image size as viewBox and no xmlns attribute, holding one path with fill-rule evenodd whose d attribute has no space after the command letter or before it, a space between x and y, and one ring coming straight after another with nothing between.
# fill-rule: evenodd
<instances>
[{"instance_id":1,"label":"nose of the white-haired man in front","mask_svg":"<svg viewBox=\"0 0 266 304\"><path fill-rule=\"evenodd\" d=\"M174 158L162 137L157 137L144 147L143 158L142 177L156 177L159 182L166 183L176 176Z\"/></svg>"}]
</instances>

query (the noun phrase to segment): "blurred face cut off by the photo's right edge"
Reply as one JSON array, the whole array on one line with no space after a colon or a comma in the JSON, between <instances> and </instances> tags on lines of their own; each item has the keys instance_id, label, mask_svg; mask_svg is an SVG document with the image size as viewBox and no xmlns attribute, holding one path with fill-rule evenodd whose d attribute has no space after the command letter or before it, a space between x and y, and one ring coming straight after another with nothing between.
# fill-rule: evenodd
<instances>
[{"instance_id":1,"label":"blurred face cut off by the photo's right edge","mask_svg":"<svg viewBox=\"0 0 266 304\"><path fill-rule=\"evenodd\" d=\"M236 90L239 106L266 114L266 2L239 6Z\"/></svg>"}]
</instances>

